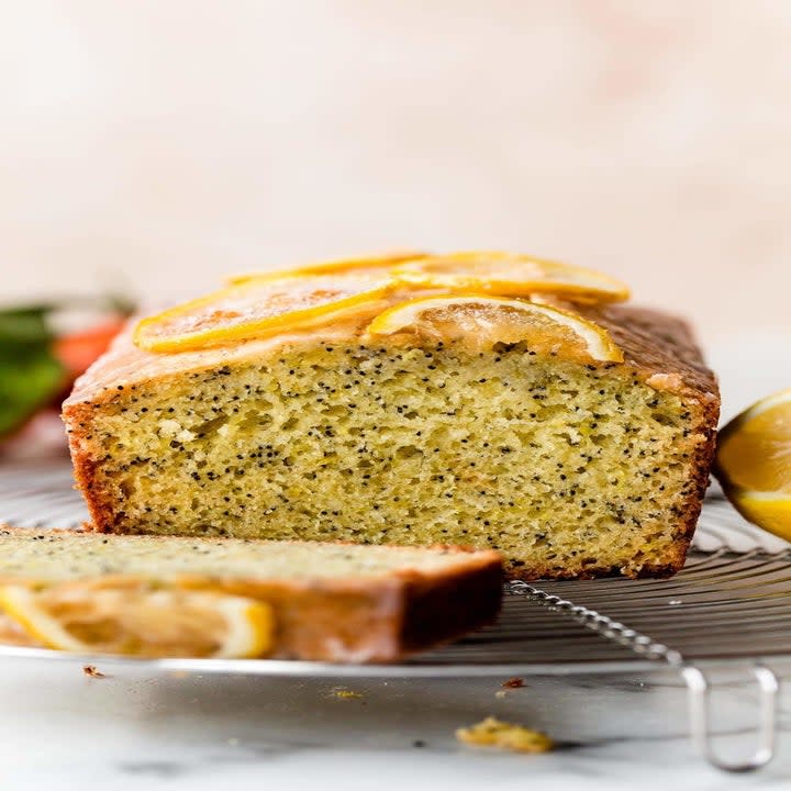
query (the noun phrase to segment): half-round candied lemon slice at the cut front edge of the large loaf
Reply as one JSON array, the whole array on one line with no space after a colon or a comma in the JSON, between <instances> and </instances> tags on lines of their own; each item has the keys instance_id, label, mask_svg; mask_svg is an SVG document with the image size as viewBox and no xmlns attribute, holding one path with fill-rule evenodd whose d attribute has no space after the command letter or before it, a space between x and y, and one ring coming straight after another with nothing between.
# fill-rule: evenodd
<instances>
[{"instance_id":1,"label":"half-round candied lemon slice at the cut front edge of the large loaf","mask_svg":"<svg viewBox=\"0 0 791 791\"><path fill-rule=\"evenodd\" d=\"M621 363L623 353L606 330L576 313L526 300L487 294L421 297L386 310L370 335L413 332L476 347L526 341L546 354Z\"/></svg>"}]
</instances>

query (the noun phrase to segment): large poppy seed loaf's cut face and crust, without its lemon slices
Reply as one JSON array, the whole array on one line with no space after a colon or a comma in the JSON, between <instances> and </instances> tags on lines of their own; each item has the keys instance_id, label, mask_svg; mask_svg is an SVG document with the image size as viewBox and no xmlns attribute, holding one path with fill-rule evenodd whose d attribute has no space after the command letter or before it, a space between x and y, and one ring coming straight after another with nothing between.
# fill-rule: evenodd
<instances>
[{"instance_id":1,"label":"large poppy seed loaf's cut face and crust, without its lemon slices","mask_svg":"<svg viewBox=\"0 0 791 791\"><path fill-rule=\"evenodd\" d=\"M96 528L437 542L513 577L665 576L708 481L716 385L684 325L606 309L623 364L354 333L151 355L65 405Z\"/></svg>"}]
</instances>

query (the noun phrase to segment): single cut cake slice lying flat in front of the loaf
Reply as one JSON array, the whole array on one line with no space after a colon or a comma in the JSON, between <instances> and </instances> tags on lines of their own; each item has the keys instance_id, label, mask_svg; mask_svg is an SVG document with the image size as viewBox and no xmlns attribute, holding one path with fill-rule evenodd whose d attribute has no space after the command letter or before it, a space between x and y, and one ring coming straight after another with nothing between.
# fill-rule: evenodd
<instances>
[{"instance_id":1,"label":"single cut cake slice lying flat in front of the loaf","mask_svg":"<svg viewBox=\"0 0 791 791\"><path fill-rule=\"evenodd\" d=\"M501 594L493 552L0 528L0 643L81 654L389 661Z\"/></svg>"}]
</instances>

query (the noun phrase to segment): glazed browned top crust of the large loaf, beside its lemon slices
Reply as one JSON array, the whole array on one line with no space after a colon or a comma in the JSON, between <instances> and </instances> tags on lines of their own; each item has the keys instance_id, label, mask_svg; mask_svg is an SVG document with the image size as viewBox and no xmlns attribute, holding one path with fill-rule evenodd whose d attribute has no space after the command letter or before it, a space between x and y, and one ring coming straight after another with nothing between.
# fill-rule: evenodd
<instances>
[{"instance_id":1,"label":"glazed browned top crust of the large loaf, beside its lemon slices","mask_svg":"<svg viewBox=\"0 0 791 791\"><path fill-rule=\"evenodd\" d=\"M568 304L565 307L570 308ZM605 326L623 349L625 364L636 370L650 387L693 396L703 402L717 401L716 379L706 368L686 321L660 311L625 305L572 309ZM231 346L176 354L154 354L137 348L132 343L133 324L130 324L111 349L78 379L64 409L101 401L102 397L110 398L119 387L222 367L245 359L266 359L276 356L286 346L358 342L367 323L368 319L349 321ZM376 341L377 346L387 343L388 338Z\"/></svg>"}]
</instances>

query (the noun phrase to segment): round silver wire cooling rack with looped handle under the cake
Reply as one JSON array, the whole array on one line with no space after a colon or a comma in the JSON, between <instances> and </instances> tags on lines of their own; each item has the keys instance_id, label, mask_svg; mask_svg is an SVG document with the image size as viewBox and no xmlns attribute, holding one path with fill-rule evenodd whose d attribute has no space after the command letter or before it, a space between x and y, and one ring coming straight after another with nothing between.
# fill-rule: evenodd
<instances>
[{"instance_id":1,"label":"round silver wire cooling rack with looped handle under the cake","mask_svg":"<svg viewBox=\"0 0 791 791\"><path fill-rule=\"evenodd\" d=\"M73 527L87 514L65 461L0 465L0 522ZM2 656L75 660L4 646ZM657 664L689 689L695 745L714 766L746 771L775 753L779 681L768 665L791 657L791 546L745 522L712 487L684 569L669 580L511 582L491 627L401 665L102 657L152 670L311 677L459 677L646 670ZM96 657L79 657L80 661ZM712 662L748 662L759 688L758 746L744 764L722 761L709 728Z\"/></svg>"}]
</instances>

